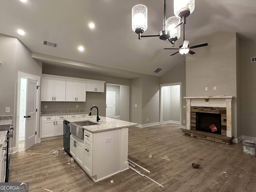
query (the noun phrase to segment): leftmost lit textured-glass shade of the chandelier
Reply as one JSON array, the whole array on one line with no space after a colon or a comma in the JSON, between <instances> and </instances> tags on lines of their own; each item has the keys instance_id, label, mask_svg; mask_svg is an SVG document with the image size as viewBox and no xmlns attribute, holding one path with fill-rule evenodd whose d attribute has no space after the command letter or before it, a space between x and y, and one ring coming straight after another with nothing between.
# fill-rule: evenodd
<instances>
[{"instance_id":1,"label":"leftmost lit textured-glass shade of the chandelier","mask_svg":"<svg viewBox=\"0 0 256 192\"><path fill-rule=\"evenodd\" d=\"M148 8L144 5L136 5L132 8L132 30L143 33L148 28Z\"/></svg>"}]
</instances>

